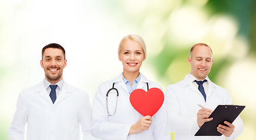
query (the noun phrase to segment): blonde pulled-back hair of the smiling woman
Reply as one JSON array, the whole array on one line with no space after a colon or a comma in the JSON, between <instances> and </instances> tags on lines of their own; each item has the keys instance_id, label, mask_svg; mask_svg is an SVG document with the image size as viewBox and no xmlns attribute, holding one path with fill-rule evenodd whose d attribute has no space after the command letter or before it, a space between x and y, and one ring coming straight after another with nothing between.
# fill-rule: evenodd
<instances>
[{"instance_id":1,"label":"blonde pulled-back hair of the smiling woman","mask_svg":"<svg viewBox=\"0 0 256 140\"><path fill-rule=\"evenodd\" d=\"M137 34L129 34L125 37L123 37L123 39L120 41L119 43L119 47L118 47L118 53L120 53L121 51L121 48L122 48L122 44L125 40L132 40L132 41L136 41L137 43L140 44L140 46L142 46L142 49L144 51L144 55L145 55L145 58L146 58L146 44L144 43L144 40L141 36L137 35Z\"/></svg>"}]
</instances>

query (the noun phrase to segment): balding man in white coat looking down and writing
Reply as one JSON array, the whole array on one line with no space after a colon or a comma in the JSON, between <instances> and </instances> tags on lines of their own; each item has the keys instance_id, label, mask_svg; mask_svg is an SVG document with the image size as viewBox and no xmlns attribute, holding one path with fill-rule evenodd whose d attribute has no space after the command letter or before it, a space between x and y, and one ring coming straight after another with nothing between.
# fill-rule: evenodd
<instances>
[{"instance_id":1,"label":"balding man in white coat looking down and writing","mask_svg":"<svg viewBox=\"0 0 256 140\"><path fill-rule=\"evenodd\" d=\"M204 43L194 45L190 50L188 64L191 65L190 74L183 81L169 85L166 89L167 109L171 132L175 132L174 139L213 139L234 140L242 134L243 122L238 115L233 124L218 125L216 128L221 136L194 136L204 122L214 118L208 118L219 104L233 104L227 90L211 82L208 74L213 65L213 52ZM201 108L198 104L206 108Z\"/></svg>"}]
</instances>

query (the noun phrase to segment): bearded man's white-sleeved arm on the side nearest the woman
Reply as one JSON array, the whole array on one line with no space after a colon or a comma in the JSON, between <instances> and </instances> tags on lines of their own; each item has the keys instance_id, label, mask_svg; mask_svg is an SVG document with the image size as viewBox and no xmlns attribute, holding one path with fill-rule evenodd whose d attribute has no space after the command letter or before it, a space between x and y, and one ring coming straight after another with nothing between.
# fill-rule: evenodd
<instances>
[{"instance_id":1,"label":"bearded man's white-sleeved arm on the side nearest the woman","mask_svg":"<svg viewBox=\"0 0 256 140\"><path fill-rule=\"evenodd\" d=\"M82 128L83 139L96 139L94 138L89 131L90 128L90 119L91 119L92 109L89 103L89 97L86 94L85 99L82 101L82 106L79 111L78 119Z\"/></svg>"}]
</instances>

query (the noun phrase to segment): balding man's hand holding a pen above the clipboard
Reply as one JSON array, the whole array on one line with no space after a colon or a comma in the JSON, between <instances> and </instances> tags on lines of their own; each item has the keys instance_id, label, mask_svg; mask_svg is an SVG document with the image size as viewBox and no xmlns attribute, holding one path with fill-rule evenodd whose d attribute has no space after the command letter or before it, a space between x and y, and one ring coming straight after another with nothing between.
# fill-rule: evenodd
<instances>
[{"instance_id":1,"label":"balding man's hand holding a pen above the clipboard","mask_svg":"<svg viewBox=\"0 0 256 140\"><path fill-rule=\"evenodd\" d=\"M213 111L208 108L204 108L201 104L198 104L198 106L200 106L201 109L198 110L197 113L197 125L201 128L204 122L213 120L213 118L208 118Z\"/></svg>"}]
</instances>

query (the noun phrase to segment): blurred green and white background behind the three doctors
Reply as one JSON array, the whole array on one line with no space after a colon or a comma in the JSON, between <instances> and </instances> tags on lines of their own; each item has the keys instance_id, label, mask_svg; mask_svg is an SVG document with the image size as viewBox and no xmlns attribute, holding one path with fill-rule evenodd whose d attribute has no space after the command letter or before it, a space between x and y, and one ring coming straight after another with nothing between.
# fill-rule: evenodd
<instances>
[{"instance_id":1,"label":"blurred green and white background behind the three doctors","mask_svg":"<svg viewBox=\"0 0 256 140\"><path fill-rule=\"evenodd\" d=\"M66 49L64 79L85 90L92 104L97 86L122 72L117 46L132 33L147 45L141 72L164 90L190 72L190 47L208 44L211 81L227 89L234 104L246 106L237 139L256 139L255 5L255 0L0 0L0 139L8 139L19 92L43 79L42 47L59 43Z\"/></svg>"}]
</instances>

